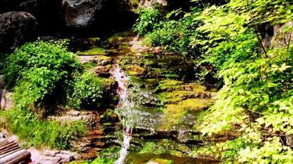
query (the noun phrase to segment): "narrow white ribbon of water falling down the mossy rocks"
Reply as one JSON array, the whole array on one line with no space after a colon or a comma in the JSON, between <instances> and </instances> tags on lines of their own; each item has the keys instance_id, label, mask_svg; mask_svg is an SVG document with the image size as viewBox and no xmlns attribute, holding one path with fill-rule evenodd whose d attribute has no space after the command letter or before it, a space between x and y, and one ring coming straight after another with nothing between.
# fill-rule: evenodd
<instances>
[{"instance_id":1,"label":"narrow white ribbon of water falling down the mossy rocks","mask_svg":"<svg viewBox=\"0 0 293 164\"><path fill-rule=\"evenodd\" d=\"M127 92L127 82L128 78L126 74L122 71L118 64L115 65L115 69L111 72L112 76L118 83L117 94L119 95L119 105L117 110L120 113L129 113L133 108L133 101L129 101L128 92ZM115 161L115 164L122 164L128 154L128 147L130 146L130 141L132 138L132 127L131 127L131 118L127 117L127 114L124 115L124 119L122 123L124 125L124 133L123 133L123 142L122 149L119 152L119 158Z\"/></svg>"}]
</instances>

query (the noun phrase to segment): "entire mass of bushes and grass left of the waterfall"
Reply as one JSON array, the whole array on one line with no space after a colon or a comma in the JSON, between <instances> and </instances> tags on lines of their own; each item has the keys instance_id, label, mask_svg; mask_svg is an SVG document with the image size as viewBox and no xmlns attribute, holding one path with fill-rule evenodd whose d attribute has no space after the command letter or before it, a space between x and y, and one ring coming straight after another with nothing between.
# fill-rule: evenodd
<instances>
[{"instance_id":1,"label":"entire mass of bushes and grass left of the waterfall","mask_svg":"<svg viewBox=\"0 0 293 164\"><path fill-rule=\"evenodd\" d=\"M66 40L26 43L8 56L4 81L13 91L14 108L4 113L8 129L28 146L58 149L86 133L85 122L59 123L44 120L57 106L98 108L103 84L94 74L83 72Z\"/></svg>"}]
</instances>

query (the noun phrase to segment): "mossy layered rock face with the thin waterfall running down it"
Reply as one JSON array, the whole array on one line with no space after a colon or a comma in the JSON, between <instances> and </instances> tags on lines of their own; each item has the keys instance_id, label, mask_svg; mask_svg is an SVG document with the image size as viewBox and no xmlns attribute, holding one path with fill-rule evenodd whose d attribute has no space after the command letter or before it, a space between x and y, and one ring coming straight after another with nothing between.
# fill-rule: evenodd
<instances>
[{"instance_id":1,"label":"mossy layered rock face with the thin waterfall running down it","mask_svg":"<svg viewBox=\"0 0 293 164\"><path fill-rule=\"evenodd\" d=\"M113 92L119 103L113 110L119 119L109 114L101 120L106 136L99 138L108 138L100 140L103 147L97 145L101 158L115 164L218 163L194 154L204 144L196 120L215 102L216 92L194 83L193 63L182 56L149 51L129 40L106 50L110 53L79 53L88 69L117 83Z\"/></svg>"}]
</instances>

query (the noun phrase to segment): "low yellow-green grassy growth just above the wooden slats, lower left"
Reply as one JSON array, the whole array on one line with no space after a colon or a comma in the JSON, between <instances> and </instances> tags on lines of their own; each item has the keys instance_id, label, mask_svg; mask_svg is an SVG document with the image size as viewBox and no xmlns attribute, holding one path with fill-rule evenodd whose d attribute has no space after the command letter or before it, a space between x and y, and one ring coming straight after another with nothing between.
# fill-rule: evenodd
<instances>
[{"instance_id":1,"label":"low yellow-green grassy growth just above the wooden slats, lower left","mask_svg":"<svg viewBox=\"0 0 293 164\"><path fill-rule=\"evenodd\" d=\"M40 120L31 110L13 108L3 113L6 127L16 133L26 146L68 149L70 141L87 132L84 122L49 122Z\"/></svg>"}]
</instances>

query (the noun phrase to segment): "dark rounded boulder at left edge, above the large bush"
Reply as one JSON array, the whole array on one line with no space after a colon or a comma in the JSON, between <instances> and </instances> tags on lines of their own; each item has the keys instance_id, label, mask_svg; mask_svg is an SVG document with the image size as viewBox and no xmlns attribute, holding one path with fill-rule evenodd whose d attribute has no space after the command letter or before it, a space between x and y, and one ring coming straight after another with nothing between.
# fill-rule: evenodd
<instances>
[{"instance_id":1,"label":"dark rounded boulder at left edge, above the large bush","mask_svg":"<svg viewBox=\"0 0 293 164\"><path fill-rule=\"evenodd\" d=\"M0 15L0 49L9 49L33 38L37 19L26 12L8 12Z\"/></svg>"}]
</instances>

